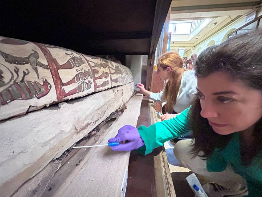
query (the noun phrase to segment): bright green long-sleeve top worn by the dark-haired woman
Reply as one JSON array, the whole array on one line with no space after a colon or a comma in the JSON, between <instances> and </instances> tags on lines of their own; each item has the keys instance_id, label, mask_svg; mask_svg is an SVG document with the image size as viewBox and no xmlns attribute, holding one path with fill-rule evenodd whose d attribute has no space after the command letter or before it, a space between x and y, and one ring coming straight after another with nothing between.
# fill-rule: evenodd
<instances>
[{"instance_id":1,"label":"bright green long-sleeve top worn by the dark-haired woman","mask_svg":"<svg viewBox=\"0 0 262 197\"><path fill-rule=\"evenodd\" d=\"M157 122L149 127L140 126L138 132L145 142L139 148L141 154L149 154L154 148L162 146L167 140L185 134L191 130L187 122L188 108L176 118ZM216 149L212 156L207 159L207 170L210 172L221 172L231 165L235 173L244 177L248 185L248 196L262 196L262 154L257 155L249 166L243 166L240 155L239 133L233 134L231 141L225 149ZM258 162L260 161L260 162Z\"/></svg>"}]
</instances>

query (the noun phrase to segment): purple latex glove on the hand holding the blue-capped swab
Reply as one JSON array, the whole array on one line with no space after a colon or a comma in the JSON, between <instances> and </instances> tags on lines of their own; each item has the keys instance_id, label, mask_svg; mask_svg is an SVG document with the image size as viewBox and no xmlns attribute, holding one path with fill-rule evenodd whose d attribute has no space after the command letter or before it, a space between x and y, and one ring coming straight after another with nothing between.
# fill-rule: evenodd
<instances>
[{"instance_id":1,"label":"purple latex glove on the hand holding the blue-capped swab","mask_svg":"<svg viewBox=\"0 0 262 197\"><path fill-rule=\"evenodd\" d=\"M110 138L108 142L123 142L124 140L126 140L125 144L113 146L111 149L119 151L131 151L138 149L145 144L140 137L137 128L131 125L125 125L124 127L120 128L117 135L113 138Z\"/></svg>"}]
</instances>

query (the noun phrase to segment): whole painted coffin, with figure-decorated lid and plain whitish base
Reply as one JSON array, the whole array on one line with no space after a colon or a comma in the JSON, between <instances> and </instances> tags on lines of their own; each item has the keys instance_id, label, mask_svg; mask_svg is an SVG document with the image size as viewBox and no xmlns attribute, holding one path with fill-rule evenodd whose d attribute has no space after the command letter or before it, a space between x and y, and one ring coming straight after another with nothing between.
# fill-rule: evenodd
<instances>
[{"instance_id":1,"label":"whole painted coffin, with figure-decorated lid and plain whitish base","mask_svg":"<svg viewBox=\"0 0 262 197\"><path fill-rule=\"evenodd\" d=\"M133 89L124 65L0 37L0 196L39 196L24 184L124 106Z\"/></svg>"}]
</instances>

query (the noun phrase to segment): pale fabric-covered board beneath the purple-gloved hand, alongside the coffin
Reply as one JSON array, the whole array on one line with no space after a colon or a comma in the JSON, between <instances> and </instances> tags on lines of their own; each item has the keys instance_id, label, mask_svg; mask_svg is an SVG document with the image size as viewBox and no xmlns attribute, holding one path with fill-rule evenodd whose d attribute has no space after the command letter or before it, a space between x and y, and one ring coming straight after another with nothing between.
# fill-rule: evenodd
<instances>
[{"instance_id":1,"label":"pale fabric-covered board beneath the purple-gloved hand, alongside the coffin","mask_svg":"<svg viewBox=\"0 0 262 197\"><path fill-rule=\"evenodd\" d=\"M136 126L140 114L143 95L136 94L126 103L127 110L117 118L101 144L117 134L119 128L126 124ZM91 149L90 149L91 150ZM110 147L92 148L93 152L81 170L74 176L67 187L57 189L51 196L124 196L122 183L127 180L125 172L130 152L113 152ZM67 181L68 182L68 181Z\"/></svg>"}]
</instances>

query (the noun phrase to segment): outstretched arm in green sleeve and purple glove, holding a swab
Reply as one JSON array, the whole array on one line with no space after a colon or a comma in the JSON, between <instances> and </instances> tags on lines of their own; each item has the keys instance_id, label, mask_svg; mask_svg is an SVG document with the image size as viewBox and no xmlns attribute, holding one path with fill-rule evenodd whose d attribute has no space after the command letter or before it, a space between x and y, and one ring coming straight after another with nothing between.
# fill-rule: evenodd
<instances>
[{"instance_id":1,"label":"outstretched arm in green sleeve and purple glove, holding a swab","mask_svg":"<svg viewBox=\"0 0 262 197\"><path fill-rule=\"evenodd\" d=\"M141 154L149 154L154 148L162 146L165 141L191 131L187 122L187 111L188 108L173 119L157 122L149 127L135 128L125 125L119 129L117 136L108 142L126 141L125 144L112 147L112 150L131 151L139 148Z\"/></svg>"}]
</instances>

